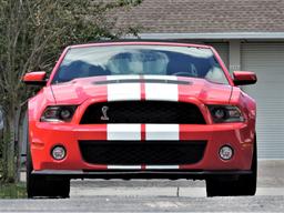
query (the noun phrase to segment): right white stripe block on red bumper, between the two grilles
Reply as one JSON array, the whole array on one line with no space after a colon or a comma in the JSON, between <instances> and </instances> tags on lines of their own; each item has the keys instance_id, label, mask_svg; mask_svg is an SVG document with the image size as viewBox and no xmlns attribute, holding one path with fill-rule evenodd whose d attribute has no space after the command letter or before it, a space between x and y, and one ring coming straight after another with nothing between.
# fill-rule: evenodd
<instances>
[{"instance_id":1,"label":"right white stripe block on red bumper, between the two grilles","mask_svg":"<svg viewBox=\"0 0 284 213\"><path fill-rule=\"evenodd\" d=\"M145 124L145 140L180 140L179 124Z\"/></svg>"}]
</instances>

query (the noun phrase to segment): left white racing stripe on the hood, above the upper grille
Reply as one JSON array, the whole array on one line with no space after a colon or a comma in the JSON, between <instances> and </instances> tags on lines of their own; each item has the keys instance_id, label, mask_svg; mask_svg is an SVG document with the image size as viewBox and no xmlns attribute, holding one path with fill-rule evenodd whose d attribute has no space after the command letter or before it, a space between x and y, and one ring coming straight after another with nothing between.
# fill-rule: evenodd
<instances>
[{"instance_id":1,"label":"left white racing stripe on the hood, above the upper grille","mask_svg":"<svg viewBox=\"0 0 284 213\"><path fill-rule=\"evenodd\" d=\"M109 75L109 80L140 79L139 75ZM110 83L108 84L108 101L135 101L141 99L140 83Z\"/></svg>"}]
</instances>

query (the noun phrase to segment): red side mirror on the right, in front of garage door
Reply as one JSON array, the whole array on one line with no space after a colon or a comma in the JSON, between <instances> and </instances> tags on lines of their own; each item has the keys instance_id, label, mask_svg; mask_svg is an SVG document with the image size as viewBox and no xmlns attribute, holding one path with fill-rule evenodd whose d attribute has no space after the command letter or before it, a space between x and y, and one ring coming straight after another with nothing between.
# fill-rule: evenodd
<instances>
[{"instance_id":1,"label":"red side mirror on the right, in front of garage door","mask_svg":"<svg viewBox=\"0 0 284 213\"><path fill-rule=\"evenodd\" d=\"M235 85L254 84L257 81L256 74L248 71L234 71L233 77Z\"/></svg>"}]
</instances>

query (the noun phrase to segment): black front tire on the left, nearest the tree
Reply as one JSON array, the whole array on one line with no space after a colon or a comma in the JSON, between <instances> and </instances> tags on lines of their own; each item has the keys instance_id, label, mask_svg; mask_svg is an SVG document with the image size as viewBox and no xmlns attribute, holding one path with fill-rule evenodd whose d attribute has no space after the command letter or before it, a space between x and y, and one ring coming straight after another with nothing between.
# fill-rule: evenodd
<instances>
[{"instance_id":1,"label":"black front tire on the left, nearest the tree","mask_svg":"<svg viewBox=\"0 0 284 213\"><path fill-rule=\"evenodd\" d=\"M29 133L27 134L29 135ZM29 138L29 136L28 136ZM69 197L70 180L32 174L33 166L29 140L27 141L27 194L33 197Z\"/></svg>"}]
</instances>

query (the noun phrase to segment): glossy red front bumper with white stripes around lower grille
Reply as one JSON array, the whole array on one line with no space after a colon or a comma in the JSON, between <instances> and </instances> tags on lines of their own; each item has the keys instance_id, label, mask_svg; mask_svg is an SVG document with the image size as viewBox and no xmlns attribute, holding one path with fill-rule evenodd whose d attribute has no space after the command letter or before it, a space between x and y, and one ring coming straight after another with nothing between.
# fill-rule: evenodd
<instances>
[{"instance_id":1,"label":"glossy red front bumper with white stripes around lower grille","mask_svg":"<svg viewBox=\"0 0 284 213\"><path fill-rule=\"evenodd\" d=\"M120 126L120 128L119 128ZM79 141L105 141L105 140L179 140L179 141L206 141L206 148L201 161L182 165L105 165L87 163L80 152ZM100 176L104 173L111 176L135 176L143 175L200 175L217 173L220 171L237 173L237 171L250 171L254 132L245 123L226 124L60 124L60 123L30 123L30 143L33 162L33 173L42 174L57 173L74 176ZM67 156L62 161L55 161L51 156L51 149L54 145L63 145L67 149ZM230 161L223 161L219 156L219 150L223 145L231 145L234 155ZM63 172L62 172L63 171ZM74 172L75 171L75 172ZM142 176L143 176L142 175Z\"/></svg>"}]
</instances>

